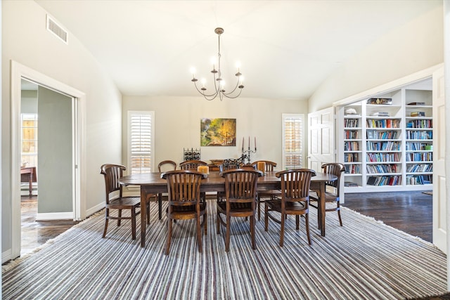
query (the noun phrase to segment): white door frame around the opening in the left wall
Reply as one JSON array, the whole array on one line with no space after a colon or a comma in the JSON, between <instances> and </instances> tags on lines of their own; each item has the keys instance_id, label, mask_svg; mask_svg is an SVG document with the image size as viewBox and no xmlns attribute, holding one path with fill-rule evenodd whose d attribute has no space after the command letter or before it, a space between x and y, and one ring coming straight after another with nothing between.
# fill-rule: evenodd
<instances>
[{"instance_id":1,"label":"white door frame around the opening in the left wall","mask_svg":"<svg viewBox=\"0 0 450 300\"><path fill-rule=\"evenodd\" d=\"M82 91L63 84L30 67L11 60L11 255L20 256L20 110L21 79L27 79L40 86L71 97L72 100L72 142L74 184L72 190L73 219L86 218L86 95Z\"/></svg>"}]
</instances>

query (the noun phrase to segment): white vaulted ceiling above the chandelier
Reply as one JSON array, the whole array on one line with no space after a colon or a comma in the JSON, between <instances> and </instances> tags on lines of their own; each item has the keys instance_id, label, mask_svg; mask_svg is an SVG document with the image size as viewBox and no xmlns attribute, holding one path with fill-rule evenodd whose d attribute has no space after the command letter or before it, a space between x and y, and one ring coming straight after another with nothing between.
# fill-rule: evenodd
<instances>
[{"instance_id":1,"label":"white vaulted ceiling above the chandelier","mask_svg":"<svg viewBox=\"0 0 450 300\"><path fill-rule=\"evenodd\" d=\"M79 39L123 95L198 96L196 77L212 82L221 65L241 97L308 99L331 73L396 27L441 0L63 1L36 0L71 39ZM228 86L228 84L226 85ZM211 90L211 89L210 89Z\"/></svg>"}]
</instances>

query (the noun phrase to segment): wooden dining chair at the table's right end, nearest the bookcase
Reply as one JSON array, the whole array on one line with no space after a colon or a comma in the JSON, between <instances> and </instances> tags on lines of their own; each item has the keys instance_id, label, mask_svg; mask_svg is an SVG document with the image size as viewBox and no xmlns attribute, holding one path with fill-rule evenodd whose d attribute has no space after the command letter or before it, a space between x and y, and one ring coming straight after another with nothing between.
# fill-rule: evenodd
<instances>
[{"instance_id":1,"label":"wooden dining chair at the table's right end, nearest the bookcase","mask_svg":"<svg viewBox=\"0 0 450 300\"><path fill-rule=\"evenodd\" d=\"M339 224L342 226L342 219L340 216L340 178L342 176L342 173L345 171L344 164L340 164L338 162L332 162L327 164L322 164L323 173L326 174L333 174L338 177L338 180L336 181L327 181L325 183L326 189L325 189L325 204L329 204L325 211L338 211L338 219ZM311 201L311 207L314 207L315 209L319 209L319 201L321 201L320 197L320 191L319 190L311 190L309 193L309 200ZM333 204L334 203L334 204ZM320 228L320 221L319 222L319 228Z\"/></svg>"}]
</instances>

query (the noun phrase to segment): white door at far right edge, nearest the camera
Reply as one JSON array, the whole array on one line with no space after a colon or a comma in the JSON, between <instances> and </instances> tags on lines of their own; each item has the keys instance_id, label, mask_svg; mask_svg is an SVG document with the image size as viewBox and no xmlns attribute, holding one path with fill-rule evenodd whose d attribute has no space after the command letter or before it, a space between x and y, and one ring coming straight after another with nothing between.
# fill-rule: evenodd
<instances>
[{"instance_id":1,"label":"white door at far right edge, nearest the camera","mask_svg":"<svg viewBox=\"0 0 450 300\"><path fill-rule=\"evenodd\" d=\"M433 73L433 244L447 253L443 67Z\"/></svg>"}]
</instances>

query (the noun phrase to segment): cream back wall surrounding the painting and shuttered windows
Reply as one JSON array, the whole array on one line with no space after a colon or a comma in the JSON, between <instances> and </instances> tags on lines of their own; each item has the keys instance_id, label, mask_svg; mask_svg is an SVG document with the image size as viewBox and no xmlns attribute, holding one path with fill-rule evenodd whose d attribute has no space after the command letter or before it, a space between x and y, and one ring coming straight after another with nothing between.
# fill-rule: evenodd
<instances>
[{"instance_id":1,"label":"cream back wall surrounding the painting and shuttered windows","mask_svg":"<svg viewBox=\"0 0 450 300\"><path fill-rule=\"evenodd\" d=\"M200 148L201 118L236 119L236 147L202 147L201 159L237 158L241 155L242 138L253 147L257 138L257 153L252 161L266 159L281 167L281 114L304 113L307 103L300 100L270 100L256 98L214 99L203 97L124 96L123 161L127 162L127 111L155 111L155 167L158 162L172 159L183 161L183 148Z\"/></svg>"}]
</instances>

